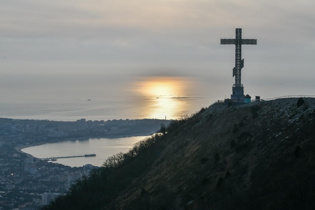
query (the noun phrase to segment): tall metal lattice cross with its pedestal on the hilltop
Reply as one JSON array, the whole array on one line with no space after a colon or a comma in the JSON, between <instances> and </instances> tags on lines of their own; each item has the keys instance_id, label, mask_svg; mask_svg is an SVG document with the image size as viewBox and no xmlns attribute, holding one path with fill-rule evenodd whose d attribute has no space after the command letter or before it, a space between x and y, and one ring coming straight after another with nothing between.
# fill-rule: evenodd
<instances>
[{"instance_id":1,"label":"tall metal lattice cross with its pedestal on the hilltop","mask_svg":"<svg viewBox=\"0 0 315 210\"><path fill-rule=\"evenodd\" d=\"M221 44L235 44L235 67L233 68L233 77L235 76L235 84L233 85L232 100L241 101L244 99L244 88L241 84L241 69L244 67L244 59L242 59L242 44L257 44L257 39L242 39L242 29L235 29L235 39L221 39ZM243 99L242 99L243 95Z\"/></svg>"}]
</instances>

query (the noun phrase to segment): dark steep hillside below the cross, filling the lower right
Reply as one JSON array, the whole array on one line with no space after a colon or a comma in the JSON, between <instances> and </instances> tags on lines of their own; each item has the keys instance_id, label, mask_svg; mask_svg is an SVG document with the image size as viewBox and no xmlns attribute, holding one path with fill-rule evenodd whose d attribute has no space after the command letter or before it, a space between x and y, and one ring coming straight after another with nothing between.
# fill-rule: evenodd
<instances>
[{"instance_id":1,"label":"dark steep hillside below the cross, filling the lower right","mask_svg":"<svg viewBox=\"0 0 315 210\"><path fill-rule=\"evenodd\" d=\"M314 209L315 99L214 104L43 209Z\"/></svg>"}]
</instances>

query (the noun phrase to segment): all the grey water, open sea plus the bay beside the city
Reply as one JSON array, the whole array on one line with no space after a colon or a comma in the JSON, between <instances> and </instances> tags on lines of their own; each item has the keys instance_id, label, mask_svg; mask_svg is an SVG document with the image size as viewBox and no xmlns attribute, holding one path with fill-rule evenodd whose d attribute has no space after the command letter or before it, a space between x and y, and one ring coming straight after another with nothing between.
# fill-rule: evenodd
<instances>
[{"instance_id":1,"label":"all the grey water, open sea plus the bay beside the city","mask_svg":"<svg viewBox=\"0 0 315 210\"><path fill-rule=\"evenodd\" d=\"M38 66L37 66L38 67ZM49 66L45 66L49 67ZM64 67L64 66L63 66ZM165 74L132 75L126 72L94 71L86 66L73 71L19 71L6 67L0 77L0 117L54 121L113 119L178 119L190 116L218 100L229 98L233 78ZM25 68L25 71L24 71ZM69 66L70 68L70 66ZM103 70L103 69L102 69ZM113 73L114 72L114 73ZM159 71L156 71L159 73ZM193 71L192 71L193 72ZM224 73L225 74L225 73ZM179 74L180 75L180 74ZM313 95L309 83L291 87L278 81L246 79L246 94L272 98L284 95ZM47 158L96 154L96 157L57 160L71 167L103 161L127 152L143 136L87 138L23 149L34 157ZM47 157L46 157L47 156Z\"/></svg>"}]
</instances>

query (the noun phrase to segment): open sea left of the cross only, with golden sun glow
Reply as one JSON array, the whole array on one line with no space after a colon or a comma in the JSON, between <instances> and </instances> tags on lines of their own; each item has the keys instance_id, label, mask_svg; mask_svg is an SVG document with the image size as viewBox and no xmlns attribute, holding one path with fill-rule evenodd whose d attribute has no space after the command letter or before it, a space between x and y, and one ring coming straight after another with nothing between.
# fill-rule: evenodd
<instances>
[{"instance_id":1,"label":"open sea left of the cross only, with golden sun glow","mask_svg":"<svg viewBox=\"0 0 315 210\"><path fill-rule=\"evenodd\" d=\"M177 119L224 95L188 77L4 75L0 117L56 121ZM212 91L213 93L215 91Z\"/></svg>"}]
</instances>

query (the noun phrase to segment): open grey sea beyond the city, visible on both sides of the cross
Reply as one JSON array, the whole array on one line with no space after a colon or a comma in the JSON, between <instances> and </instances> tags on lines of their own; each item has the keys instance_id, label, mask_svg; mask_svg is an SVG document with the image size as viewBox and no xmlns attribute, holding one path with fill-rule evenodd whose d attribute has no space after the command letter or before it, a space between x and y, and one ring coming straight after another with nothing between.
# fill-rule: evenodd
<instances>
[{"instance_id":1,"label":"open grey sea beyond the city, visible on both sides of the cross","mask_svg":"<svg viewBox=\"0 0 315 210\"><path fill-rule=\"evenodd\" d=\"M0 117L56 121L177 119L229 98L234 83L230 71L146 72L95 65L4 65L0 73ZM244 92L253 99L313 95L313 81L297 84L248 75L242 76Z\"/></svg>"}]
</instances>

